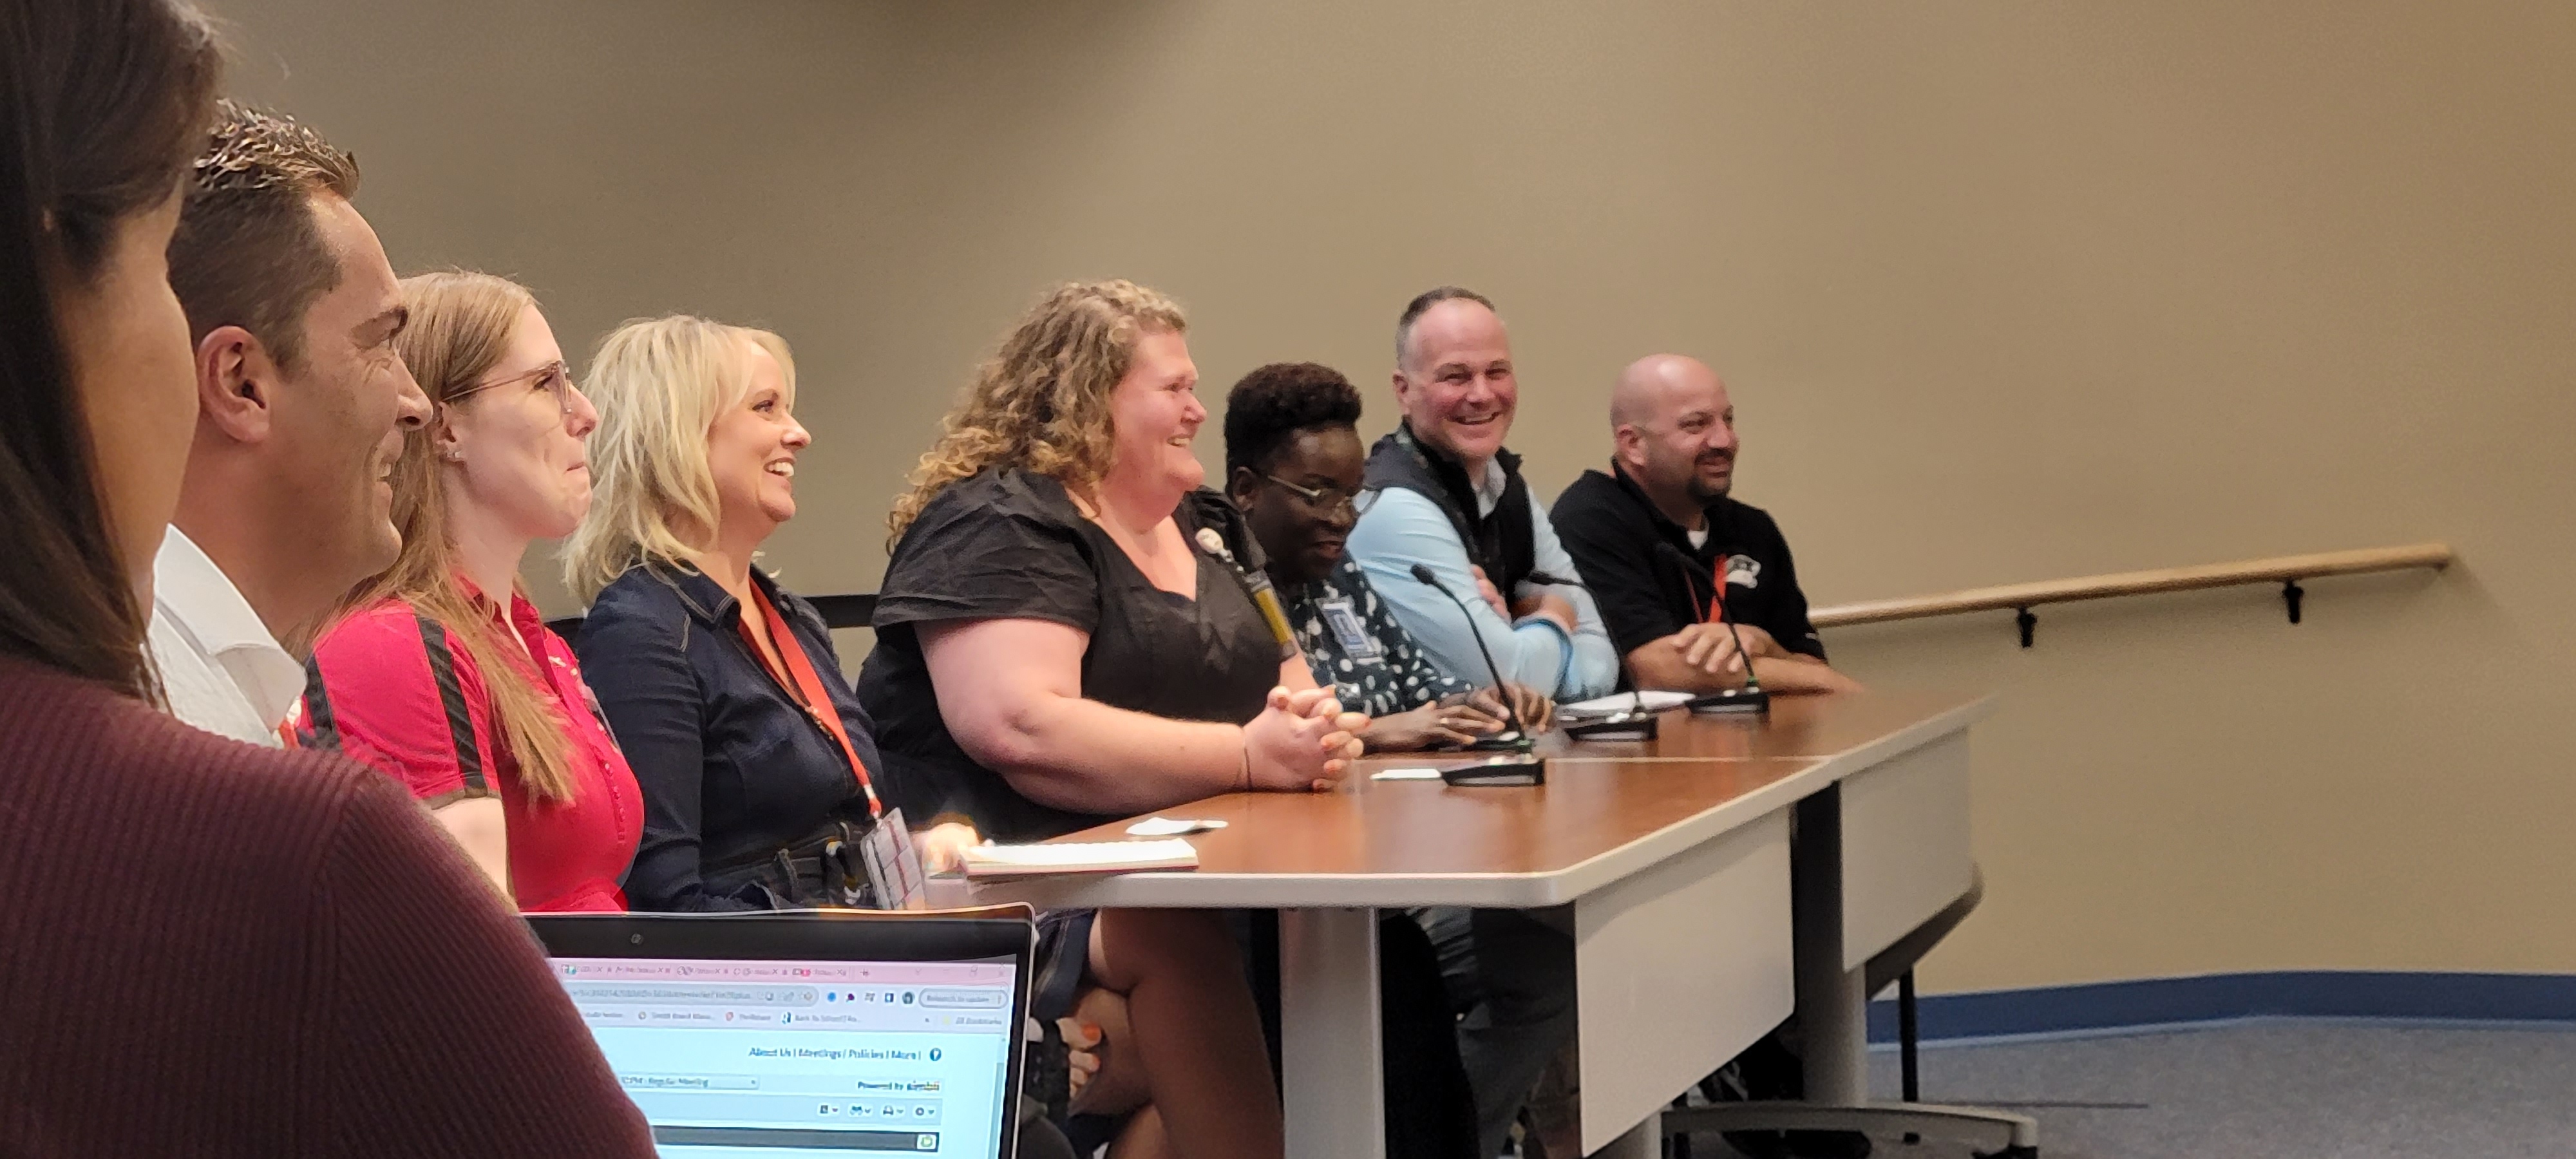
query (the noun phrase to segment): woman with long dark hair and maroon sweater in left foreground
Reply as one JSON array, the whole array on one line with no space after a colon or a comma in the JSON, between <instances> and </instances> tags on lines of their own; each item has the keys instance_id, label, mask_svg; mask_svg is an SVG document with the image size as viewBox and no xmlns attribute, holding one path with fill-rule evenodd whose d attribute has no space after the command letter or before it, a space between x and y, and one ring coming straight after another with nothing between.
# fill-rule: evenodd
<instances>
[{"instance_id":1,"label":"woman with long dark hair and maroon sweater in left foreground","mask_svg":"<svg viewBox=\"0 0 2576 1159\"><path fill-rule=\"evenodd\" d=\"M0 0L0 1154L647 1156L399 786L152 708L216 77L178 0Z\"/></svg>"}]
</instances>

